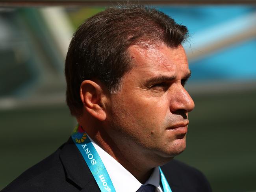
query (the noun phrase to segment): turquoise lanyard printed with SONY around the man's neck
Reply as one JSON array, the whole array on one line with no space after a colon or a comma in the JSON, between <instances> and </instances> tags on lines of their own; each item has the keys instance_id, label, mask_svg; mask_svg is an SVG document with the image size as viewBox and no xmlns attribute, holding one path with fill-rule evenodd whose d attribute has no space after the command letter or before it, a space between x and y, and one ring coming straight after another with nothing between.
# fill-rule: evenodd
<instances>
[{"instance_id":1,"label":"turquoise lanyard printed with SONY around the man's neck","mask_svg":"<svg viewBox=\"0 0 256 192\"><path fill-rule=\"evenodd\" d=\"M113 183L109 177L108 171L106 170L100 156L98 155L95 147L93 146L89 137L83 130L83 128L77 125L72 133L71 136L74 144L80 151L85 160L87 166L89 167L93 177L98 184L101 192L115 192L115 188ZM161 168L160 170L160 177L161 183L163 186L164 192L172 192Z\"/></svg>"}]
</instances>

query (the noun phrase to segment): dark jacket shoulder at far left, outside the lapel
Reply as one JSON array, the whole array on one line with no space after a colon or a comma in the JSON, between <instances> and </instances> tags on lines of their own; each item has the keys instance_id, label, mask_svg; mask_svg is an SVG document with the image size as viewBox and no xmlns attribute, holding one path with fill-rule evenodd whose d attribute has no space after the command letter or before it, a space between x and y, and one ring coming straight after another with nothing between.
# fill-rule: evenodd
<instances>
[{"instance_id":1,"label":"dark jacket shoulder at far left, outside the lapel","mask_svg":"<svg viewBox=\"0 0 256 192\"><path fill-rule=\"evenodd\" d=\"M74 186L68 185L65 181L65 171L59 159L60 151L61 147L46 159L26 170L1 192L42 192L47 191L47 188L51 191L75 191Z\"/></svg>"}]
</instances>

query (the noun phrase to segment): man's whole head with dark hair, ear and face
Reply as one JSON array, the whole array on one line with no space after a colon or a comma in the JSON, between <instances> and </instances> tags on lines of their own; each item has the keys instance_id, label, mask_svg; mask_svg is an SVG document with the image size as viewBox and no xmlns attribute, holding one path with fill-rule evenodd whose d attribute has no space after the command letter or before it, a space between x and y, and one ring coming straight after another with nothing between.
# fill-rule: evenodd
<instances>
[{"instance_id":1,"label":"man's whole head with dark hair, ear and face","mask_svg":"<svg viewBox=\"0 0 256 192\"><path fill-rule=\"evenodd\" d=\"M71 113L92 117L102 143L126 159L154 167L181 153L194 108L184 89L186 37L185 26L141 6L107 8L89 18L66 59ZM81 122L89 127L88 118Z\"/></svg>"}]
</instances>

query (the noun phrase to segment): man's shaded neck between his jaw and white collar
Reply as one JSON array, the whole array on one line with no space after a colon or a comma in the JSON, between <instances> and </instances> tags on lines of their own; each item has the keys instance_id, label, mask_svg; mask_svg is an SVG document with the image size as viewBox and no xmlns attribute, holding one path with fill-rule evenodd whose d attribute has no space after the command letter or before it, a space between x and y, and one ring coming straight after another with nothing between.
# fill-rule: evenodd
<instances>
[{"instance_id":1,"label":"man's shaded neck between his jaw and white collar","mask_svg":"<svg viewBox=\"0 0 256 192\"><path fill-rule=\"evenodd\" d=\"M89 118L89 116L78 119L78 122L98 146L134 175L140 183L145 183L152 174L153 168L159 166L156 163L158 161L153 161L151 152L150 155L145 154L145 150L134 144L134 142L132 145L129 139L120 138L116 135L116 132L107 132L110 127L109 129L102 128L105 127L102 126L102 122Z\"/></svg>"}]
</instances>

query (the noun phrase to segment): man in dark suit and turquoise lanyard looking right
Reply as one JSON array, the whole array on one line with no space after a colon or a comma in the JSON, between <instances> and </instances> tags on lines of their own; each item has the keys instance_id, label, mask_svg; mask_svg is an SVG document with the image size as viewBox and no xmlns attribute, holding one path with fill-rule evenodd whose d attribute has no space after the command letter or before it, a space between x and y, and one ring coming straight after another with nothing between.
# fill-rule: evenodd
<instances>
[{"instance_id":1,"label":"man in dark suit and turquoise lanyard looking right","mask_svg":"<svg viewBox=\"0 0 256 192\"><path fill-rule=\"evenodd\" d=\"M65 64L78 126L3 191L211 191L199 171L172 160L186 148L194 108L184 88L187 33L143 6L107 8L86 20Z\"/></svg>"}]
</instances>

